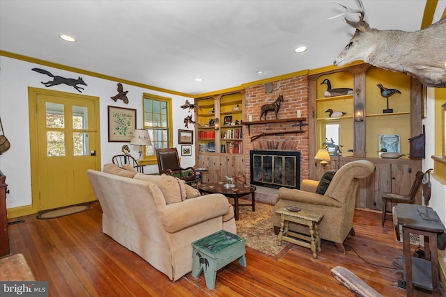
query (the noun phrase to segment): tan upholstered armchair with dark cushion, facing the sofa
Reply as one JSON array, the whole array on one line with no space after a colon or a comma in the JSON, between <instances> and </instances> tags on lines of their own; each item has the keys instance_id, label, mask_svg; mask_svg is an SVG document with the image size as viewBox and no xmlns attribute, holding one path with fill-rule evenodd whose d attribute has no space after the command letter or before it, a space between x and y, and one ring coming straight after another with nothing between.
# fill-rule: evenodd
<instances>
[{"instance_id":1,"label":"tan upholstered armchair with dark cushion, facing the sofa","mask_svg":"<svg viewBox=\"0 0 446 297\"><path fill-rule=\"evenodd\" d=\"M368 177L374 171L374 164L367 160L346 163L337 170L324 195L315 193L318 182L304 179L301 189L279 188L279 200L274 210L282 207L300 207L307 211L323 214L319 223L321 239L332 241L339 252L345 253L344 240L348 234L355 235L353 214L359 179ZM275 232L280 230L280 216L272 214ZM308 228L290 224L291 231L308 234Z\"/></svg>"}]
</instances>

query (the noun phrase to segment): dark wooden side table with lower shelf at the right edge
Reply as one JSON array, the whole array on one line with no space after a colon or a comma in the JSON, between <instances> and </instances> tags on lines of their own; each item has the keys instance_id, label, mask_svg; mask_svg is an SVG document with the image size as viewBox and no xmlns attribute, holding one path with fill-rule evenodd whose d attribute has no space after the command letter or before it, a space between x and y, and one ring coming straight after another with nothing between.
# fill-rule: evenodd
<instances>
[{"instance_id":1,"label":"dark wooden side table with lower shelf at the right edge","mask_svg":"<svg viewBox=\"0 0 446 297\"><path fill-rule=\"evenodd\" d=\"M426 213L426 210L429 212ZM442 296L438 275L437 239L438 235L445 232L445 226L431 207L397 204L395 214L398 224L403 226L403 275L406 280L407 296L413 296L414 284L432 291L433 296ZM412 257L411 233L424 235L425 259Z\"/></svg>"}]
</instances>

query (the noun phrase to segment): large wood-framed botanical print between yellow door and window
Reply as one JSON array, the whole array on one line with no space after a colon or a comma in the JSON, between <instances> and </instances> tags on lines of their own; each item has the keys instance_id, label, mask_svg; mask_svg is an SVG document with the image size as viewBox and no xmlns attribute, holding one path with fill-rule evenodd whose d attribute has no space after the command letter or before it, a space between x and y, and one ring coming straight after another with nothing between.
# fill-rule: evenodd
<instances>
[{"instance_id":1,"label":"large wood-framed botanical print between yellow door and window","mask_svg":"<svg viewBox=\"0 0 446 297\"><path fill-rule=\"evenodd\" d=\"M128 143L137 127L137 110L108 106L109 142Z\"/></svg>"}]
</instances>

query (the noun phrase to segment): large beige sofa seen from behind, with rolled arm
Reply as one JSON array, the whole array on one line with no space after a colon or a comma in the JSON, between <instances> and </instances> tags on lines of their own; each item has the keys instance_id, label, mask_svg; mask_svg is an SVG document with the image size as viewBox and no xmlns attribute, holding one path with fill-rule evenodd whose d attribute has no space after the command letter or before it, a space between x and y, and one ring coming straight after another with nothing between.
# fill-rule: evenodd
<instances>
[{"instance_id":1,"label":"large beige sofa seen from behind, with rolled arm","mask_svg":"<svg viewBox=\"0 0 446 297\"><path fill-rule=\"evenodd\" d=\"M114 164L105 171L113 174L87 171L102 207L102 231L171 280L192 271L193 241L222 229L236 233L233 209L224 195L200 196L175 177L144 175ZM172 201L174 192L178 202Z\"/></svg>"}]
</instances>

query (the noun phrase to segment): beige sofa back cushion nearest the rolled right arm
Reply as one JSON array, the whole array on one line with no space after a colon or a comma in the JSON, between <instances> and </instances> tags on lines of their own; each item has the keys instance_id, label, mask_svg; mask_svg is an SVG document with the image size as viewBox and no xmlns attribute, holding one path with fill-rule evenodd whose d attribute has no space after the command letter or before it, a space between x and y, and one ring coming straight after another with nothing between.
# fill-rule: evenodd
<instances>
[{"instance_id":1,"label":"beige sofa back cushion nearest the rolled right arm","mask_svg":"<svg viewBox=\"0 0 446 297\"><path fill-rule=\"evenodd\" d=\"M166 204L178 203L186 199L186 183L176 177L137 173L133 178L156 184L162 191Z\"/></svg>"}]
</instances>

